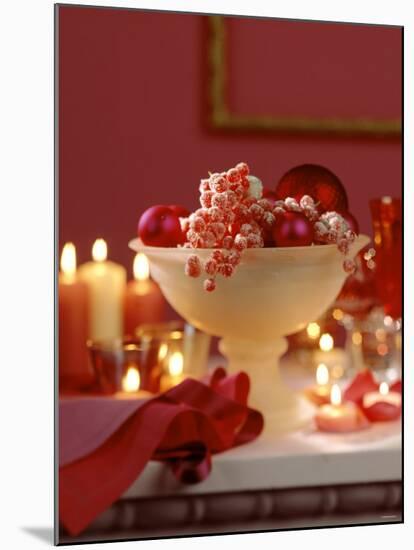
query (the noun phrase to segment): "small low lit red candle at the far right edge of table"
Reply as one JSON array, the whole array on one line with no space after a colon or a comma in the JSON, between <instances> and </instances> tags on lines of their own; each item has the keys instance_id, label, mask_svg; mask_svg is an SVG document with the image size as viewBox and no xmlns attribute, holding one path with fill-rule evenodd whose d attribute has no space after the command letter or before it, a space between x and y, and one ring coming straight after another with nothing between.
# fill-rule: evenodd
<instances>
[{"instance_id":1,"label":"small low lit red candle at the far right edge of table","mask_svg":"<svg viewBox=\"0 0 414 550\"><path fill-rule=\"evenodd\" d=\"M365 416L371 422L396 420L401 415L401 395L390 391L388 384L382 382L377 392L368 392L362 399Z\"/></svg>"}]
</instances>

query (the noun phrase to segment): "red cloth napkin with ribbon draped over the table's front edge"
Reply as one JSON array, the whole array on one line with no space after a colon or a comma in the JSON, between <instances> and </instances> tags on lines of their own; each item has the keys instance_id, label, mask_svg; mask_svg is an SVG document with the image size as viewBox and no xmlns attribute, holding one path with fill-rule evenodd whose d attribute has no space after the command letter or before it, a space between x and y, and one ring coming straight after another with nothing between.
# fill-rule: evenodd
<instances>
[{"instance_id":1,"label":"red cloth napkin with ribbon draped over the table's front edge","mask_svg":"<svg viewBox=\"0 0 414 550\"><path fill-rule=\"evenodd\" d=\"M248 443L263 416L247 406L245 373L218 368L147 400L79 397L59 405L59 516L83 531L137 479L149 460L166 461L183 483L205 479L211 455Z\"/></svg>"}]
</instances>

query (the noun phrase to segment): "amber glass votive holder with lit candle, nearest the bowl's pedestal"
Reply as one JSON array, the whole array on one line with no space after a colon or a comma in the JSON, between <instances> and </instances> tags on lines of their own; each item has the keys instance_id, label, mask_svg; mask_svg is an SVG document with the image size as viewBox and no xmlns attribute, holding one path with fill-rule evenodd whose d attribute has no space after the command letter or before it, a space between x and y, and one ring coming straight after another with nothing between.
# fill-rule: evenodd
<instances>
[{"instance_id":1,"label":"amber glass votive holder with lit candle, nearest the bowl's pedestal","mask_svg":"<svg viewBox=\"0 0 414 550\"><path fill-rule=\"evenodd\" d=\"M211 336L183 321L140 325L136 336L143 342L159 342L164 374L199 378L207 372ZM173 384L175 385L175 384Z\"/></svg>"}]
</instances>

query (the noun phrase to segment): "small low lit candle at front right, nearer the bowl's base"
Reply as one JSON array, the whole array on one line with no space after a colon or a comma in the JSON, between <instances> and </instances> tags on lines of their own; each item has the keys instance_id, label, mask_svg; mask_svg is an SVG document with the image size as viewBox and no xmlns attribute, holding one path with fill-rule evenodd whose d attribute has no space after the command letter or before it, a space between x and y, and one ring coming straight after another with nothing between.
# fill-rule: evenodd
<instances>
[{"instance_id":1,"label":"small low lit candle at front right, nearer the bowl's base","mask_svg":"<svg viewBox=\"0 0 414 550\"><path fill-rule=\"evenodd\" d=\"M353 432L368 424L355 403L342 403L341 388L338 384L332 385L331 402L318 409L315 423L323 432Z\"/></svg>"}]
</instances>

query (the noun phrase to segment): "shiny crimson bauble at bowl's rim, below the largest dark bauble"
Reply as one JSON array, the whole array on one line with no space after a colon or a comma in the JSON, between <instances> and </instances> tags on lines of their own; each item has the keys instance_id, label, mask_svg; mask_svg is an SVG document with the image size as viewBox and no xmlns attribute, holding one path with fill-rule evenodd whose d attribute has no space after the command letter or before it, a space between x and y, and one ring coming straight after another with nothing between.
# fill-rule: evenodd
<instances>
[{"instance_id":1,"label":"shiny crimson bauble at bowl's rim, below the largest dark bauble","mask_svg":"<svg viewBox=\"0 0 414 550\"><path fill-rule=\"evenodd\" d=\"M313 242L313 226L301 212L278 216L272 234L276 246L309 246Z\"/></svg>"}]
</instances>

